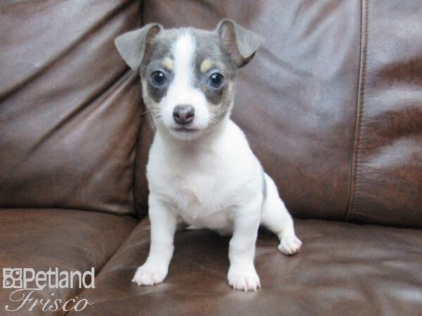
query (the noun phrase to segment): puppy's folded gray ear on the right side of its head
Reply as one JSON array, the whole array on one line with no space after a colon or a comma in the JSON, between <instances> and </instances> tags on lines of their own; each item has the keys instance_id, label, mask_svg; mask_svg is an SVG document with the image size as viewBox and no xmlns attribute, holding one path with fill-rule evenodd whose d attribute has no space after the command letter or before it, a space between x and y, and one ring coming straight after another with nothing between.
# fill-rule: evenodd
<instances>
[{"instance_id":1,"label":"puppy's folded gray ear on the right side of its head","mask_svg":"<svg viewBox=\"0 0 422 316\"><path fill-rule=\"evenodd\" d=\"M217 26L222 43L238 68L246 65L262 45L260 35L238 25L234 20L222 20Z\"/></svg>"}]
</instances>

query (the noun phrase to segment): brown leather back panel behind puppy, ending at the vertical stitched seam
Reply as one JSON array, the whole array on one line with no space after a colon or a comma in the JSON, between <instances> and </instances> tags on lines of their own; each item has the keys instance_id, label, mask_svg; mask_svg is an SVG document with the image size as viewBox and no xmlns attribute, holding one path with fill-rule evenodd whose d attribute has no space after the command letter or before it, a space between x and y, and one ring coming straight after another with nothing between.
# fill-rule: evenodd
<instances>
[{"instance_id":1,"label":"brown leather back panel behind puppy, ending at the vertical stitched seam","mask_svg":"<svg viewBox=\"0 0 422 316\"><path fill-rule=\"evenodd\" d=\"M143 1L143 22L214 29L232 18L264 37L239 70L232 118L294 216L345 219L359 75L360 1ZM143 124L136 203L146 209Z\"/></svg>"}]
</instances>

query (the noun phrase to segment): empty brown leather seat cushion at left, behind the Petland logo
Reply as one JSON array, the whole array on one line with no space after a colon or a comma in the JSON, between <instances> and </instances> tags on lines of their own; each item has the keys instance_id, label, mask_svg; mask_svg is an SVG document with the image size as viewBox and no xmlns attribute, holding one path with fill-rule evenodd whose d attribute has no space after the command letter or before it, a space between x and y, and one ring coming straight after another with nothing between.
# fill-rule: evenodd
<instances>
[{"instance_id":1,"label":"empty brown leather seat cushion at left, behind the Petland logo","mask_svg":"<svg viewBox=\"0 0 422 316\"><path fill-rule=\"evenodd\" d=\"M86 272L94 267L99 272L132 231L132 218L65 209L0 210L0 268L32 268L35 271ZM3 276L1 277L3 284ZM31 283L31 287L34 283ZM15 289L0 289L0 315L62 315L43 312L41 305L28 311L30 303L11 313L22 301L12 302ZM49 289L35 291L32 297L44 300L75 298L81 290ZM22 296L21 294L19 296Z\"/></svg>"}]
</instances>

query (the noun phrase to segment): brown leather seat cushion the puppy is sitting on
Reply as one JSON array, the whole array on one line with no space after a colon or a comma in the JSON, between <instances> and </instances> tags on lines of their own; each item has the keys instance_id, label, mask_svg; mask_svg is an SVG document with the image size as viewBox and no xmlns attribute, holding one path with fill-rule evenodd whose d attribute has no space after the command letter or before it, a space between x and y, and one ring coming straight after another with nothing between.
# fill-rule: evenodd
<instances>
[{"instance_id":1,"label":"brown leather seat cushion the puppy is sitting on","mask_svg":"<svg viewBox=\"0 0 422 316\"><path fill-rule=\"evenodd\" d=\"M277 251L260 231L255 263L262 289L226 282L229 237L178 232L165 282L131 283L145 261L150 226L143 220L96 277L94 302L74 315L416 315L422 310L422 231L297 220L299 254ZM72 312L70 315L73 315Z\"/></svg>"}]
</instances>

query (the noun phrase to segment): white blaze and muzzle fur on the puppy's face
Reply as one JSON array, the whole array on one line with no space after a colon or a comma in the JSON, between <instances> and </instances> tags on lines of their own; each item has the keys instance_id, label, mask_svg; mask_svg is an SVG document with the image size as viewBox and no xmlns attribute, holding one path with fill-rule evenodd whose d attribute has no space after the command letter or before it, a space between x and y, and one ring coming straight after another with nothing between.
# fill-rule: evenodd
<instances>
[{"instance_id":1,"label":"white blaze and muzzle fur on the puppy's face","mask_svg":"<svg viewBox=\"0 0 422 316\"><path fill-rule=\"evenodd\" d=\"M195 109L195 117L189 126L191 129L204 129L210 117L203 91L193 86L195 51L195 39L188 32L181 33L172 46L174 79L161 102L163 123L170 131L178 127L173 119L173 109L177 105L191 105Z\"/></svg>"}]
</instances>

